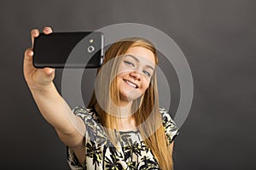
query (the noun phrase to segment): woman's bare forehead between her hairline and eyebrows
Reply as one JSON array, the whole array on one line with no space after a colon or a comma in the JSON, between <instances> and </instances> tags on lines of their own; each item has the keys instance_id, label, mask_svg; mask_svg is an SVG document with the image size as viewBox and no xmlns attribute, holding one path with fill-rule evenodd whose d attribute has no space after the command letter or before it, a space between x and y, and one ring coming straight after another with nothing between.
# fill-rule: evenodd
<instances>
[{"instance_id":1,"label":"woman's bare forehead between her hairline and eyebrows","mask_svg":"<svg viewBox=\"0 0 256 170\"><path fill-rule=\"evenodd\" d=\"M154 53L150 51L148 48L143 47L131 47L128 48L125 54L132 54L138 58L142 58L143 60L147 60L148 62L155 65L155 57Z\"/></svg>"}]
</instances>

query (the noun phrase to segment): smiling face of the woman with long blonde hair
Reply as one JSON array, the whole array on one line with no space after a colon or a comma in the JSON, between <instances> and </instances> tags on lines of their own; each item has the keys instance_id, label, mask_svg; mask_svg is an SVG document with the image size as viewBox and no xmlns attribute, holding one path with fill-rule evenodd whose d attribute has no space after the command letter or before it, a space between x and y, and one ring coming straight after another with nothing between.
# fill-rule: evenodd
<instances>
[{"instance_id":1,"label":"smiling face of the woman with long blonde hair","mask_svg":"<svg viewBox=\"0 0 256 170\"><path fill-rule=\"evenodd\" d=\"M119 65L117 76L120 105L139 98L154 74L155 56L148 48L131 47Z\"/></svg>"}]
</instances>

